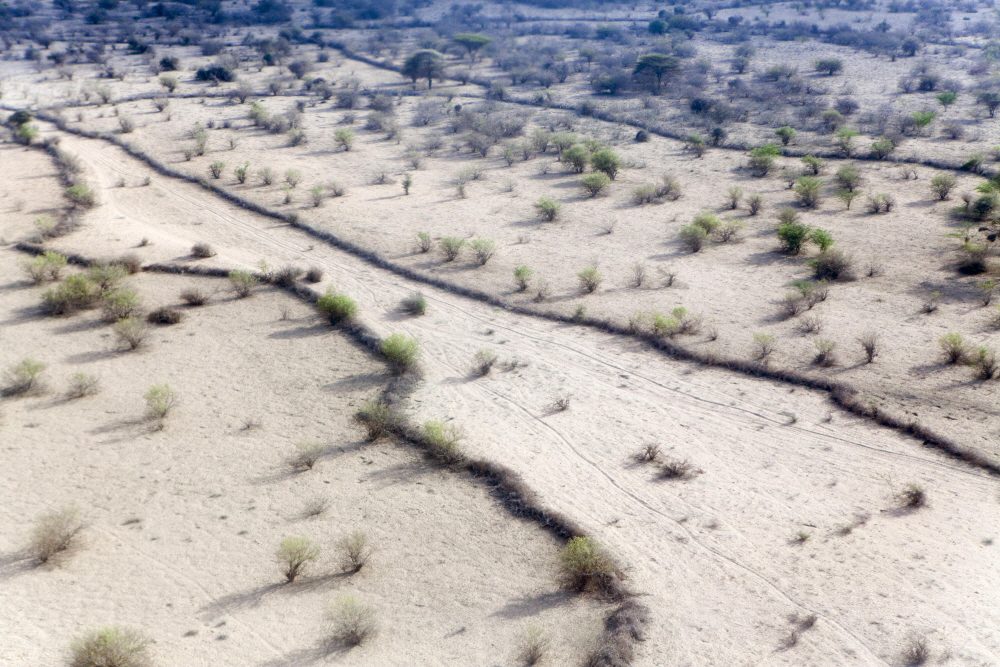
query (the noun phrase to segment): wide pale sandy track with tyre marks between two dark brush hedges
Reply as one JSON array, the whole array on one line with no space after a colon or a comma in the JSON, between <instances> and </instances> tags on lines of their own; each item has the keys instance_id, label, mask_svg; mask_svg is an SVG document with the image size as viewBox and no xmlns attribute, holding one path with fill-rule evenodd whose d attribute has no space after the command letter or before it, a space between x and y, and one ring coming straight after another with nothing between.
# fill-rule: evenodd
<instances>
[{"instance_id":1,"label":"wide pale sandy track with tyre marks between two dark brush hedges","mask_svg":"<svg viewBox=\"0 0 1000 667\"><path fill-rule=\"evenodd\" d=\"M147 237L144 260L177 260L206 241L220 251L209 263L316 264L378 332L420 340L426 377L413 413L454 419L471 452L522 472L620 556L652 609L641 664L893 664L912 632L955 664L987 665L1000 652L988 477L819 396L699 371L587 330L436 290L425 290L425 317L400 319L396 304L413 285L195 186L154 177L148 188L109 187L143 167L96 142L64 146L105 203L60 247L118 253ZM525 366L469 380L482 347ZM548 414L560 395L572 397L569 411ZM646 442L703 474L656 481L631 462ZM925 485L928 508L892 509L891 489L907 482ZM809 540L791 545L800 530ZM787 617L810 613L815 628L778 651Z\"/></svg>"}]
</instances>

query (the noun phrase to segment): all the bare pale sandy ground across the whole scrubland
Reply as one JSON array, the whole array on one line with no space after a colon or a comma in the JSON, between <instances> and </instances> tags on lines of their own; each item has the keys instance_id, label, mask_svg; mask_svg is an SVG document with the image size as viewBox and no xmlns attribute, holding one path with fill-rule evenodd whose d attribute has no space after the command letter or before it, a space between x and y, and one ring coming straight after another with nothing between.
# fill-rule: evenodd
<instances>
[{"instance_id":1,"label":"all the bare pale sandy ground across the whole scrubland","mask_svg":"<svg viewBox=\"0 0 1000 667\"><path fill-rule=\"evenodd\" d=\"M436 19L448 9L437 3L420 16ZM772 9L790 20L797 14L791 6ZM539 25L564 16L521 6L512 11L544 19ZM623 7L586 21L641 25L650 13ZM838 16L830 10L813 18ZM904 18L890 15L894 25L905 25ZM398 65L426 36L422 30L398 31L378 57ZM370 36L365 30L323 34L359 51ZM234 49L241 37L239 30L226 33ZM761 40L756 46L755 70L795 62L805 71L817 57L845 58L844 75L810 74L811 80L829 86L831 95L849 86L866 108L889 99L886 91L914 65L913 59L890 62L812 42ZM723 63L733 50L710 40L699 40L698 48ZM314 45L297 49L308 58L321 52ZM922 59L943 66L957 58L949 49L931 44ZM408 420L454 425L465 452L509 467L542 506L578 524L621 564L629 591L650 612L632 664L902 665L904 649L919 639L929 648L928 664L1000 661L1000 486L982 467L844 412L821 392L677 361L632 337L407 279L157 173L109 140L74 131L107 133L170 169L295 214L403 269L537 314L579 313L624 324L637 312L683 306L701 326L677 336L677 344L740 360L752 358L755 334L773 335L770 368L843 382L864 403L997 464L1000 382L977 381L969 368L944 364L939 347L942 335L959 332L972 345L1000 350L1000 331L988 324L996 304L983 306L979 294L988 275L955 270L963 228L954 209L959 194L983 177L955 173L951 198L937 201L930 181L951 171L916 166L907 178L891 162L828 160L821 205L796 210L804 222L832 233L835 247L852 257L857 279L832 283L825 301L786 318L781 300L795 281L811 276L808 260L816 251L778 251L778 212L795 206L792 191L780 169L750 177L744 151L710 149L697 158L677 140L635 142L632 126L538 105L487 103L481 86L456 81L416 94L399 74L336 49L325 50L329 60L316 62L310 76L338 90L357 86L364 101L355 109L300 94L300 82L282 67L240 68L241 80L255 91L276 77L282 81L281 94L252 96L268 113L301 103L308 141L289 145L286 136L253 126L249 100L223 97L235 84L192 80L193 69L213 58L194 46L164 52L185 64L179 94L164 111L149 99L162 94L156 76L123 52L110 58L128 72L123 80L97 78L86 65L71 66L73 78L66 79L23 61L3 63L0 101L10 109L60 106L71 131L38 122L40 140L58 140L75 156L98 198L78 229L47 246L92 258L129 253L144 264L322 269L314 287L356 299L359 320L373 334L418 341L421 376L402 404ZM450 58L450 73L465 66ZM975 54L961 58L955 62L965 68ZM474 70L500 75L489 58ZM721 94L725 81L716 83ZM117 103L98 103L99 87ZM522 102L534 94L528 86L510 92ZM549 92L560 104L593 97L580 73ZM365 129L375 115L367 103L377 93L393 95L395 136ZM437 117L414 122L430 103L438 105ZM648 107L664 122L684 121L663 100L596 103L628 117ZM896 103L920 110L933 97ZM590 198L580 175L555 153L510 165L497 148L476 156L465 145L465 131L451 129L456 105L520 116L529 133L553 128L599 140L621 155L623 168L604 194ZM973 106L963 96L947 114L968 117L976 113ZM121 118L134 130L120 132ZM771 140L774 122L781 121L751 118L730 136ZM908 139L897 154L956 161L988 150L1000 137L993 122L969 125L964 140L946 142L933 133ZM185 156L198 127L206 132L207 151ZM335 140L344 128L355 133L349 151ZM828 149L829 138L804 131L792 148ZM218 179L209 174L216 161L225 163ZM240 164L248 165L246 183L234 175ZM832 184L845 164L863 176L863 194L851 210ZM795 157L779 158L778 166L801 169ZM274 174L269 185L262 183L264 168ZM302 176L288 195L282 187L287 170ZM376 184L380 173L385 182ZM677 179L680 199L632 202L636 187L664 174ZM413 179L408 193L405 175ZM457 189L462 180L468 181L464 193ZM313 206L310 189L328 194L334 184L343 196ZM734 186L763 197L759 215L749 215L745 203L726 206ZM883 192L895 197L895 208L868 214L864 195ZM553 222L541 222L534 210L543 196L562 204ZM395 441L364 442L351 417L390 375L306 303L272 287L235 299L223 278L142 272L128 283L149 308L177 305L180 292L193 285L212 298L203 308L185 308L180 324L154 327L148 345L136 352L115 350L109 325L94 311L42 315L44 288L23 280L26 255L12 244L34 236L32 221L57 216L61 204L56 171L42 150L0 144L0 370L25 357L47 364L44 393L0 399L0 627L13 637L0 646L0 664L63 664L72 637L107 623L146 631L165 665L516 664L531 628L552 638L544 664L584 661L611 608L607 601L560 590L559 541L513 518L466 474ZM678 233L705 211L738 222L739 237L690 253ZM417 249L419 232L434 240L428 253ZM466 247L446 262L438 243L448 236L493 240L495 256L479 266ZM217 254L194 259L196 243ZM519 265L535 272L525 292L512 281ZM589 265L604 281L583 294L577 273ZM630 285L636 265L646 271L642 287ZM870 266L878 267L877 275L867 275ZM543 284L548 294L536 300ZM413 317L400 304L418 291L427 313ZM929 301L936 309L924 312ZM803 331L807 319L818 322L809 333ZM864 363L858 344L869 332L880 339L874 364ZM835 345L837 362L830 367L813 361L821 340ZM495 353L497 363L477 377L473 360L482 350ZM101 392L64 400L77 371L97 375ZM180 396L162 431L142 419L143 393L157 382ZM565 409L556 409L560 400ZM323 456L313 470L289 472L286 458L307 440L321 442ZM668 460L689 462L693 473L669 479L639 462L636 454L650 444ZM926 506L900 507L897 494L909 484L926 491ZM320 497L329 502L325 512L304 517ZM57 562L33 566L21 549L35 518L68 504L85 518L81 540ZM361 572L346 575L334 545L355 528L368 533L375 552ZM281 585L274 551L293 534L315 539L324 552L302 580ZM379 632L361 647L331 651L323 612L343 593L374 607Z\"/></svg>"}]
</instances>

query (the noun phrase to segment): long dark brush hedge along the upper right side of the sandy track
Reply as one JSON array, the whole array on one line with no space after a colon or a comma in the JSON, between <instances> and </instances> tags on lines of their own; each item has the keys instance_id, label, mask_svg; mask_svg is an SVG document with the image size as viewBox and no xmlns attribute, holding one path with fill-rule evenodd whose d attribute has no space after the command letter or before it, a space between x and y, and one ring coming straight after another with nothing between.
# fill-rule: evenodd
<instances>
[{"instance_id":1,"label":"long dark brush hedge along the upper right side of the sandy track","mask_svg":"<svg viewBox=\"0 0 1000 667\"><path fill-rule=\"evenodd\" d=\"M563 315L560 313L555 313L552 311L543 311L531 308L528 306L522 306L517 304L511 304L503 299L488 294L486 292L471 289L468 287L463 287L461 285L456 285L454 283L436 278L434 276L428 276L420 273L414 269L396 264L383 256L379 255L373 250L363 248L351 241L340 238L339 236L327 232L321 229L317 229L309 224L306 224L298 219L298 216L294 214L285 214L277 211L272 211L260 204L246 200L239 195L233 194L219 186L213 185L212 183L206 181L205 179L191 176L183 172L177 171L166 164L160 162L156 158L149 156L144 151L134 148L131 145L121 141L113 135L107 135L100 132L92 132L89 130L83 130L79 128L68 127L65 121L52 114L39 112L37 114L38 118L41 120L51 122L56 125L60 130L76 134L78 136L86 137L89 139L97 139L102 141L110 142L123 151L128 153L130 156L141 160L148 164L158 173L170 176L172 178L178 178L188 183L198 185L209 192L219 196L220 198L228 201L232 204L240 206L248 211L256 213L261 216L265 216L274 220L280 220L289 226L302 231L313 238L319 239L328 245L343 250L355 257L358 257L369 264L372 264L378 268L385 269L391 273L394 273L407 280L412 280L414 282L422 283L424 285L429 285L435 287L449 294L454 294L456 296L465 297L487 305L500 308L502 310L515 313L518 315L524 315L526 317L534 317L538 319L547 320L550 322L555 322L559 324L575 324L588 326L605 333L615 334L618 336L636 338L643 340L648 343L652 348L659 350L666 356L672 357L674 359L679 359L682 361L690 361L703 366L710 366L715 368L722 368L725 370L730 370L733 372L741 373L750 377L764 378L768 380L774 380L777 382L784 382L787 384L792 384L795 386L804 387L807 389L813 389L815 391L820 391L826 393L831 400L842 408L843 410L856 415L858 417L863 417L865 419L870 419L874 423L881 426L891 428L897 432L903 433L905 435L912 436L918 440L921 440L924 445L937 449L938 451L955 458L957 460L968 463L972 466L985 470L993 475L1000 476L1000 464L991 461L989 458L983 456L979 452L960 445L958 442L948 438L947 436L936 433L935 431L922 426L915 421L908 421L904 418L892 415L885 412L877 407L867 405L859 397L859 392L850 385L836 382L833 380L827 380L825 378L817 378L803 373L798 373L792 370L772 368L769 366L763 366L761 364L755 363L753 361L747 361L736 358L725 358L716 356L714 354L698 352L685 347L682 347L673 341L658 338L653 334L637 334L630 331L625 326L612 322L611 320L599 319L596 317L582 317L578 318L574 315Z\"/></svg>"}]
</instances>

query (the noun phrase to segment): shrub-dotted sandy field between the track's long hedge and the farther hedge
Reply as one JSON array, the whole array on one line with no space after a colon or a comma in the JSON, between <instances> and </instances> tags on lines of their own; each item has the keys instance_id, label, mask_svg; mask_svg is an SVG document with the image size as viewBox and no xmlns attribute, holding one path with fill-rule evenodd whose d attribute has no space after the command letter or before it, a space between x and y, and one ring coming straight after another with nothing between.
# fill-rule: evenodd
<instances>
[{"instance_id":1,"label":"shrub-dotted sandy field between the track's long hedge and the farther hedge","mask_svg":"<svg viewBox=\"0 0 1000 667\"><path fill-rule=\"evenodd\" d=\"M290 105L284 99L265 104L274 113ZM413 104L404 104L399 113L404 126ZM976 285L982 278L959 277L953 268L958 241L952 237L960 226L950 211L956 197L945 202L933 197L929 182L936 170L917 168L916 180L904 180L896 166L855 163L864 178L863 192L890 192L897 197L897 208L878 216L864 210L864 195L851 210L845 210L828 185L820 208L800 215L806 223L834 235L837 247L854 258L855 273L861 279L832 286L826 302L805 316L787 319L780 314L779 301L792 289L793 281L811 275L808 253L790 258L778 252L776 213L781 207L795 206L795 199L780 177L757 179L743 172L745 157L740 153L712 151L696 159L678 142L654 138L635 144L622 141L608 123L579 123L575 128L581 136L609 141L627 165L606 196L591 199L580 189L579 176L552 156L515 162L508 168L498 157L477 159L467 152L454 152L448 143L454 135L445 133L444 147L424 158L420 169L410 171L414 185L405 196L398 181L408 169L405 157L412 149L407 146L422 145L443 132L446 121L429 129L405 127L404 139L397 144L385 141L381 133L361 129L359 120L355 146L344 152L337 150L331 136L343 127L344 112L325 106L306 112L304 128L312 139L305 149L289 147L283 137L250 128L245 106L176 100L175 107L173 117L184 118L183 122L164 122L146 101L120 105L120 112L131 114L138 126L123 136L172 167L198 177L208 178L208 165L224 161L228 174L213 181L216 184L275 210L295 211L304 221L403 265L513 302L534 305L534 290L513 291L512 271L526 264L536 271L535 284L548 283L551 289L551 299L538 305L540 309L571 314L584 307L588 315L624 323L637 311L668 312L684 306L704 319L703 331L686 337L686 343L737 358L753 354L752 334L775 335L779 343L772 363L850 382L866 390L871 401L912 415L990 457L1000 456L995 444L1000 434L996 384L974 382L968 370L940 363L942 335L957 331L975 345L997 349L1000 332L987 325L995 307L984 308L979 302ZM83 114L83 121L74 125L111 131L116 124L106 107ZM74 117L72 111L66 115ZM195 123L207 125L213 120L219 129L209 130L209 152L185 161L182 152L191 144L187 132ZM220 127L227 123L231 129ZM230 140L237 142L235 149L229 149ZM231 170L244 162L251 165L251 176L240 185ZM827 178L848 163L830 160ZM783 164L801 167L795 159ZM273 185L263 186L254 177L262 166L277 175ZM465 198L458 197L455 179L462 170L476 168L483 170L484 178L466 186ZM541 173L543 168L547 174ZM300 171L303 183L293 193L292 204L286 205L280 179L288 169ZM373 185L372 175L379 170L395 182ZM677 178L682 198L634 206L632 190L656 182L664 173ZM961 176L956 191L972 190L980 180ZM116 181L117 177L107 184ZM347 194L314 208L308 203L308 189L330 182L342 185ZM742 208L727 210L726 191L734 186L747 195L760 193L765 200L763 212L750 217ZM556 222L538 221L533 203L541 196L562 202ZM695 254L682 248L678 231L705 210L743 224L741 240L709 244ZM378 214L373 216L372 211ZM614 226L610 234L609 224ZM415 252L418 231L434 238L493 239L496 257L478 267L467 250L464 259L445 263L437 250L426 255ZM649 275L643 289L628 287L637 263ZM576 275L590 264L598 266L605 282L596 294L582 296ZM872 264L881 267L882 275L864 277ZM661 288L663 276L670 273L676 274L675 285ZM931 315L922 313L923 304L935 292L940 292L940 308ZM821 321L819 333L800 333L804 317ZM869 331L877 331L882 339L876 366L862 363L857 343ZM718 339L707 341L709 332L717 333ZM832 368L812 364L820 338L837 346L839 363Z\"/></svg>"}]
</instances>

